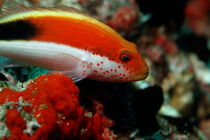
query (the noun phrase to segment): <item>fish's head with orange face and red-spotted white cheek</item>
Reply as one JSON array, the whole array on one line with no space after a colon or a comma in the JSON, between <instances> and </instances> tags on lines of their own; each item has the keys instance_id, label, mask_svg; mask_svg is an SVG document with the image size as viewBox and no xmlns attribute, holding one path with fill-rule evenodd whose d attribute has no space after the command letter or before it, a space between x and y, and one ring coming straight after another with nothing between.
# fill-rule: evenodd
<instances>
[{"instance_id":1,"label":"fish's head with orange face and red-spotted white cheek","mask_svg":"<svg viewBox=\"0 0 210 140\"><path fill-rule=\"evenodd\" d=\"M89 59L89 79L107 82L129 82L143 80L148 76L148 66L134 43L127 42L106 56L94 54ZM112 54L112 57L110 57Z\"/></svg>"}]
</instances>

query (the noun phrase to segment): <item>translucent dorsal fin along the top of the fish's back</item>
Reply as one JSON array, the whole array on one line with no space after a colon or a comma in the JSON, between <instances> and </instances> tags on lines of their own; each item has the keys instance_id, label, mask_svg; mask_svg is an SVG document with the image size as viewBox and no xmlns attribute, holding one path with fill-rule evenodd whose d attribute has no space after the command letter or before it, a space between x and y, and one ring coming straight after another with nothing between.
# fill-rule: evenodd
<instances>
[{"instance_id":1,"label":"translucent dorsal fin along the top of the fish's back","mask_svg":"<svg viewBox=\"0 0 210 140\"><path fill-rule=\"evenodd\" d=\"M38 10L54 10L54 11L66 11L70 13L77 13L83 16L89 16L85 12L78 10L74 7L67 7L67 6L55 6L55 7L26 7L21 5L14 0L0 0L0 17L9 16L12 14L17 14L26 11L38 11ZM90 16L89 16L90 17Z\"/></svg>"}]
</instances>

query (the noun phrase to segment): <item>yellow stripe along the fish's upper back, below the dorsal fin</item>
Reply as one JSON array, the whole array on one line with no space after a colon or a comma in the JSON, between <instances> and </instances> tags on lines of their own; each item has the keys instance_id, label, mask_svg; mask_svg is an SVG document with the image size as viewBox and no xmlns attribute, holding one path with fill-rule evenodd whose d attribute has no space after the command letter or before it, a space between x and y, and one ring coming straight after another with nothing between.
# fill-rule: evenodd
<instances>
[{"instance_id":1,"label":"yellow stripe along the fish's upper back, below the dorsal fin","mask_svg":"<svg viewBox=\"0 0 210 140\"><path fill-rule=\"evenodd\" d=\"M86 21L92 24L95 24L104 30L108 31L109 33L112 33L113 35L116 35L119 38L122 38L116 31L114 31L112 28L109 26L99 22L98 20L91 18L89 16L85 16L76 12L66 12L66 11L61 11L61 10L45 10L45 9L40 9L40 10L32 10L32 11L26 11L22 13L17 13L14 15L9 15L6 17L0 18L0 24L2 23L7 23L7 22L12 22L16 20L25 20L27 18L39 18L39 17L45 17L45 16L51 16L51 17L63 17L63 18L70 18L70 19L75 19L75 20L82 20Z\"/></svg>"}]
</instances>

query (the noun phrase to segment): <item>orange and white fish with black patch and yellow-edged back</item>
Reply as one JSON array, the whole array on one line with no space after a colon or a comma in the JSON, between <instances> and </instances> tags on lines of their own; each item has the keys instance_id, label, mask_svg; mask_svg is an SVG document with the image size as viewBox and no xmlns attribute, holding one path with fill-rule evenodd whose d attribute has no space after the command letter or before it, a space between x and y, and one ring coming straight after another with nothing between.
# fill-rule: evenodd
<instances>
[{"instance_id":1,"label":"orange and white fish with black patch and yellow-edged back","mask_svg":"<svg viewBox=\"0 0 210 140\"><path fill-rule=\"evenodd\" d=\"M26 7L0 0L0 56L84 78L129 82L148 76L137 46L73 7Z\"/></svg>"}]
</instances>

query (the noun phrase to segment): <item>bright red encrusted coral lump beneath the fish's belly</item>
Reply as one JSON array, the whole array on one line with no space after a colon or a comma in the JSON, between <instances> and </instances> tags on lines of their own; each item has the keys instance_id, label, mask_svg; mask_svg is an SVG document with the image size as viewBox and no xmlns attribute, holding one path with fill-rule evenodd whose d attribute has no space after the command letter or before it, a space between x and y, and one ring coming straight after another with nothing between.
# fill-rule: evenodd
<instances>
[{"instance_id":1,"label":"bright red encrusted coral lump beneath the fish's belly","mask_svg":"<svg viewBox=\"0 0 210 140\"><path fill-rule=\"evenodd\" d=\"M113 123L103 113L87 116L80 106L78 88L64 75L43 75L31 82L23 92L4 89L0 92L0 104L7 106L6 125L9 137L1 140L112 140L109 130ZM11 109L10 109L11 108ZM39 128L27 133L25 114L33 116ZM108 135L108 136L107 136Z\"/></svg>"}]
</instances>

